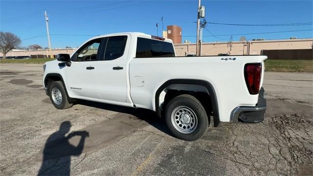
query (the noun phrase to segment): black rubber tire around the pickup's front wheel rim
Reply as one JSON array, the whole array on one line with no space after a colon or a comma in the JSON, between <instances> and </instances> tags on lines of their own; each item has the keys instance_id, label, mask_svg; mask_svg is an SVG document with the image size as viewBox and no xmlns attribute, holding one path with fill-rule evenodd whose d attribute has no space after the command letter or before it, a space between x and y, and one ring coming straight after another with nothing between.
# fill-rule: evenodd
<instances>
[{"instance_id":1,"label":"black rubber tire around the pickup's front wheel rim","mask_svg":"<svg viewBox=\"0 0 313 176\"><path fill-rule=\"evenodd\" d=\"M62 95L62 99L61 99L61 102L59 102L59 104L56 103L52 98L52 96L53 96L52 91L54 90L54 88L58 89ZM63 86L62 81L54 81L51 83L51 85L49 86L49 97L50 97L52 104L57 109L67 109L67 108L72 107L72 105L73 105L73 103L68 102L67 92Z\"/></svg>"}]
</instances>

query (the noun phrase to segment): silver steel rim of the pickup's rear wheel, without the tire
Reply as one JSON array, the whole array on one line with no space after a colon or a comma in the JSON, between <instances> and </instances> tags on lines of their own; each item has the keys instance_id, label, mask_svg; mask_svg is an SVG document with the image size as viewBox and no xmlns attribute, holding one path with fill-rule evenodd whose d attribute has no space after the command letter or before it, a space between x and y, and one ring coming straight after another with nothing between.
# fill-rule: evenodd
<instances>
[{"instance_id":1,"label":"silver steel rim of the pickup's rear wheel, without the tire","mask_svg":"<svg viewBox=\"0 0 313 176\"><path fill-rule=\"evenodd\" d=\"M196 113L187 106L176 107L172 112L171 120L175 129L184 134L192 133L198 126Z\"/></svg>"}]
</instances>

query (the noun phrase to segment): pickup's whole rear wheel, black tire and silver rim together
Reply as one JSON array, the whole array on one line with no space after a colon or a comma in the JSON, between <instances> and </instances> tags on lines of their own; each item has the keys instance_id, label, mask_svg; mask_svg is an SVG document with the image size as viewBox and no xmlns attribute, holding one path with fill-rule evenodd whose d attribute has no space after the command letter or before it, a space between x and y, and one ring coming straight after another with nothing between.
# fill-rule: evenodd
<instances>
[{"instance_id":1,"label":"pickup's whole rear wheel, black tire and silver rim together","mask_svg":"<svg viewBox=\"0 0 313 176\"><path fill-rule=\"evenodd\" d=\"M191 95L180 95L167 103L165 122L172 134L195 141L205 133L209 122L201 102Z\"/></svg>"}]
</instances>

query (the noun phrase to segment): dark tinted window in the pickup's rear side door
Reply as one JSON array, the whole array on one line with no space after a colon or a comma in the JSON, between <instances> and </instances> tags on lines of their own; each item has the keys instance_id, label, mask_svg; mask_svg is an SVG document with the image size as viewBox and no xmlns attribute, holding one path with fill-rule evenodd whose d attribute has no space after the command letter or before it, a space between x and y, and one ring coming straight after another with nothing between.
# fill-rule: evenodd
<instances>
[{"instance_id":1,"label":"dark tinted window in the pickup's rear side door","mask_svg":"<svg viewBox=\"0 0 313 176\"><path fill-rule=\"evenodd\" d=\"M107 40L104 53L104 60L114 60L124 54L127 36L113 36Z\"/></svg>"}]
</instances>

